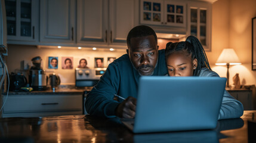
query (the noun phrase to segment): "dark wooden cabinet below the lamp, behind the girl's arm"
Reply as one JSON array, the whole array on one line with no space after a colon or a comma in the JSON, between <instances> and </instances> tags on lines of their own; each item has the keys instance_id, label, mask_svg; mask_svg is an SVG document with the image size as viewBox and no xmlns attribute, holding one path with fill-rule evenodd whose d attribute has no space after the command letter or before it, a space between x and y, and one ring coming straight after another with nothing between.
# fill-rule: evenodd
<instances>
[{"instance_id":1,"label":"dark wooden cabinet below the lamp, behind the girl's arm","mask_svg":"<svg viewBox=\"0 0 256 143\"><path fill-rule=\"evenodd\" d=\"M227 90L232 97L243 104L243 110L253 110L252 90L249 89L230 89Z\"/></svg>"}]
</instances>

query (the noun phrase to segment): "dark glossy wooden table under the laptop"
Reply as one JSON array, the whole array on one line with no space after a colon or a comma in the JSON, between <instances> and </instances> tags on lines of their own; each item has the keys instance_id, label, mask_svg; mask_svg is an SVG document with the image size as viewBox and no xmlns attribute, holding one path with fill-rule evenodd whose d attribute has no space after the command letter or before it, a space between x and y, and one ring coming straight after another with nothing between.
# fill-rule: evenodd
<instances>
[{"instance_id":1,"label":"dark glossy wooden table under the laptop","mask_svg":"<svg viewBox=\"0 0 256 143\"><path fill-rule=\"evenodd\" d=\"M219 120L214 130L144 134L130 132L117 118L2 118L0 142L256 142L255 115L256 111L244 111L239 119ZM248 126L248 120L254 124Z\"/></svg>"}]
</instances>

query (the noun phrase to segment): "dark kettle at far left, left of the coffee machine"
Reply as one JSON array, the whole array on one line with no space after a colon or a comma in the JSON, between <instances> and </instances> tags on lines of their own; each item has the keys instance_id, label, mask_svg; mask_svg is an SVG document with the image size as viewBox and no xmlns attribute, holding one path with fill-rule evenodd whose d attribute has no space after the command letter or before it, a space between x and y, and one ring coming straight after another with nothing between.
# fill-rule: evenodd
<instances>
[{"instance_id":1,"label":"dark kettle at far left, left of the coffee machine","mask_svg":"<svg viewBox=\"0 0 256 143\"><path fill-rule=\"evenodd\" d=\"M21 91L27 85L27 78L22 74L10 74L10 91Z\"/></svg>"}]
</instances>

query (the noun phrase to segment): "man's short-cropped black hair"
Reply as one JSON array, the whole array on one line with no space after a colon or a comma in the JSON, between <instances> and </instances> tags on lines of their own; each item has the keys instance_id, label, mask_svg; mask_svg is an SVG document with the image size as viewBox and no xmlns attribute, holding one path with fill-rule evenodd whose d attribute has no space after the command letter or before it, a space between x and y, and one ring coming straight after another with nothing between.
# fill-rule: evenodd
<instances>
[{"instance_id":1,"label":"man's short-cropped black hair","mask_svg":"<svg viewBox=\"0 0 256 143\"><path fill-rule=\"evenodd\" d=\"M158 43L158 37L156 36L155 31L151 27L145 26L145 25L134 27L129 31L127 36L128 48L131 44L131 38L140 38L140 37L150 36L150 35L153 35L155 37L156 43Z\"/></svg>"}]
</instances>

